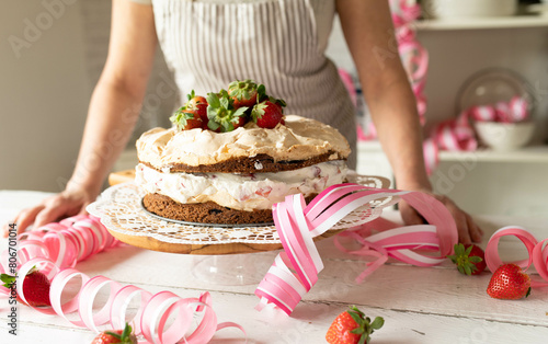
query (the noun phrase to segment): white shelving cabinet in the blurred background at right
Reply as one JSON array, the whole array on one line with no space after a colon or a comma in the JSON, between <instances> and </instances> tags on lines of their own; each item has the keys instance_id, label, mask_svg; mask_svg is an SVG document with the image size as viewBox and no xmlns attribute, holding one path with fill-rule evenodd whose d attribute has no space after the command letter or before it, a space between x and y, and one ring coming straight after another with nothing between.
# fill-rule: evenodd
<instances>
[{"instance_id":1,"label":"white shelving cabinet in the blurred background at right","mask_svg":"<svg viewBox=\"0 0 548 344\"><path fill-rule=\"evenodd\" d=\"M435 191L472 214L546 217L548 18L427 20L419 22L416 28L430 53L426 130L457 115L461 85L486 68L507 68L522 74L536 99L537 131L529 147L510 153L442 151L438 169L432 175ZM358 145L357 170L391 177L378 142Z\"/></svg>"}]
</instances>

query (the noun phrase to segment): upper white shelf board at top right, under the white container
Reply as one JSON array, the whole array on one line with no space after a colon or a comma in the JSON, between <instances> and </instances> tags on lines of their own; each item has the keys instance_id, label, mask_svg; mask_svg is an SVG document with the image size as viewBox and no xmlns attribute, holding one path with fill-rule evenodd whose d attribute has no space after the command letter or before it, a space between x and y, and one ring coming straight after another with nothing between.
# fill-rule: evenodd
<instances>
[{"instance_id":1,"label":"upper white shelf board at top right, under the white container","mask_svg":"<svg viewBox=\"0 0 548 344\"><path fill-rule=\"evenodd\" d=\"M504 18L478 19L425 19L416 22L420 31L444 30L478 30L478 28L517 28L517 27L548 27L548 16L516 15Z\"/></svg>"}]
</instances>

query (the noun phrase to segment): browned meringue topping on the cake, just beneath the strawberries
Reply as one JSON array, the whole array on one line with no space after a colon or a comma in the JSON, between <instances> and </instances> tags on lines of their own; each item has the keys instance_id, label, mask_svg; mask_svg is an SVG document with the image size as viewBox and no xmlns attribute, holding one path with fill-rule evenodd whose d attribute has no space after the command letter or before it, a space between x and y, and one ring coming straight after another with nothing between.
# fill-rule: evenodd
<instances>
[{"instance_id":1,"label":"browned meringue topping on the cake, just beneath the strawberries","mask_svg":"<svg viewBox=\"0 0 548 344\"><path fill-rule=\"evenodd\" d=\"M142 134L136 146L139 161L158 170L176 163L197 167L259 154L274 161L298 161L335 152L329 160L340 160L351 152L335 128L296 115L286 116L285 125L274 129L260 128L252 122L228 133L153 128Z\"/></svg>"}]
</instances>

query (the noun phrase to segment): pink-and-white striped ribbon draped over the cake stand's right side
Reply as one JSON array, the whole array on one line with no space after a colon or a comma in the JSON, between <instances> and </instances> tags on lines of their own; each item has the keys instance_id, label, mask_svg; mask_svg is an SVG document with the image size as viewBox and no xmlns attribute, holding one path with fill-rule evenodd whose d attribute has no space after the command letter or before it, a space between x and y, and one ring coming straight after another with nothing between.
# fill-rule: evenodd
<instances>
[{"instance_id":1,"label":"pink-and-white striped ribbon draped over the cake stand's right side","mask_svg":"<svg viewBox=\"0 0 548 344\"><path fill-rule=\"evenodd\" d=\"M452 254L458 240L455 221L447 208L430 195L368 188L358 184L331 186L308 206L302 195L290 195L273 206L274 222L284 251L276 256L255 289L261 299L256 309L273 303L290 314L323 270L312 238L321 236L357 208L386 197L395 197L396 202L404 199L431 225L402 227L366 238L367 249L359 254L376 256L378 261L369 265L358 280L383 265L389 256L419 266L432 266ZM439 256L425 255L419 250L438 251Z\"/></svg>"}]
</instances>

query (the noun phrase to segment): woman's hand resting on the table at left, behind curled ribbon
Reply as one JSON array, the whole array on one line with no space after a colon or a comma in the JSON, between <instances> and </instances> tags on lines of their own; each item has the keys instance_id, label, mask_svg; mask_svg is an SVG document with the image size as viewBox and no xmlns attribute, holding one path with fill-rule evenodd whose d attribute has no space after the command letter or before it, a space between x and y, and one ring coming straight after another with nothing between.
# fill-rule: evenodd
<instances>
[{"instance_id":1,"label":"woman's hand resting on the table at left, behind curled ribbon","mask_svg":"<svg viewBox=\"0 0 548 344\"><path fill-rule=\"evenodd\" d=\"M23 209L11 223L16 223L18 234L34 223L35 228L57 221L61 218L87 214L85 207L95 200L96 195L84 190L66 190L42 200L39 204ZM8 226L3 228L3 237L8 236Z\"/></svg>"}]
</instances>

